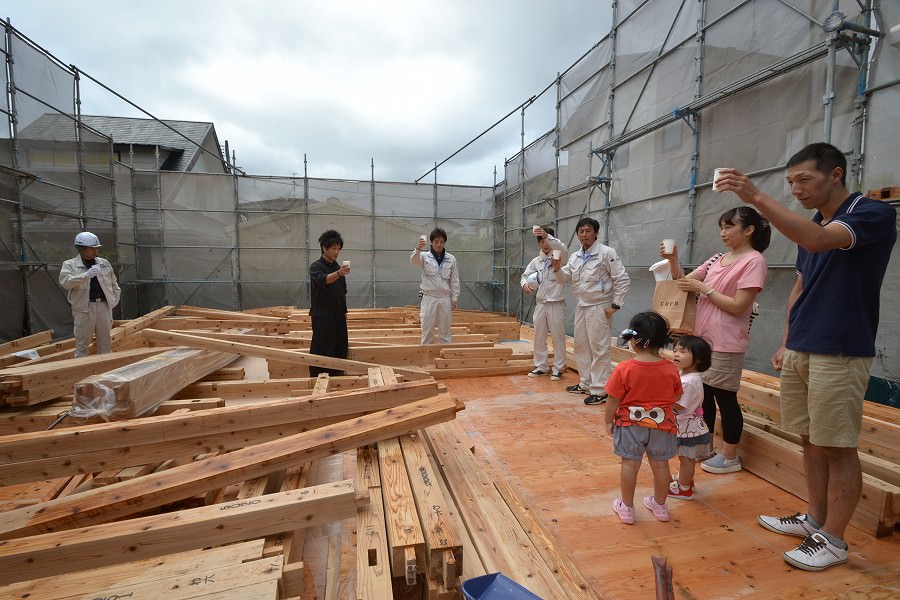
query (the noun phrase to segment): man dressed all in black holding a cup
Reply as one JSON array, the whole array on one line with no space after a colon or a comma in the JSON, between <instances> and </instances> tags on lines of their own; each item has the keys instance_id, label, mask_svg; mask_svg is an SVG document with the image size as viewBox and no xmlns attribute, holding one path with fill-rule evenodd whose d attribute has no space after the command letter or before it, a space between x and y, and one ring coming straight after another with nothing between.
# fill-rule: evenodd
<instances>
[{"instance_id":1,"label":"man dressed all in black holding a cup","mask_svg":"<svg viewBox=\"0 0 900 600\"><path fill-rule=\"evenodd\" d=\"M338 257L344 249L341 234L329 229L319 236L322 256L309 265L310 308L313 337L309 346L310 354L347 358L347 280L350 261L338 264ZM319 373L341 375L343 371L310 367L310 377Z\"/></svg>"}]
</instances>

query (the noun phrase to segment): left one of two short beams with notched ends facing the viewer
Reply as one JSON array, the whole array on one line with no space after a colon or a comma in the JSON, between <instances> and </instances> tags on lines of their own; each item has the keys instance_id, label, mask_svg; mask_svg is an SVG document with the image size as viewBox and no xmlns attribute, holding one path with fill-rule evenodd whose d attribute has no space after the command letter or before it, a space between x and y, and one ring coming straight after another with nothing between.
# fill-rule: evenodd
<instances>
[{"instance_id":1,"label":"left one of two short beams with notched ends facing the viewer","mask_svg":"<svg viewBox=\"0 0 900 600\"><path fill-rule=\"evenodd\" d=\"M405 577L415 582L417 573L426 572L425 536L419 524L403 452L396 438L378 442L378 466L381 470L391 572L394 577Z\"/></svg>"}]
</instances>

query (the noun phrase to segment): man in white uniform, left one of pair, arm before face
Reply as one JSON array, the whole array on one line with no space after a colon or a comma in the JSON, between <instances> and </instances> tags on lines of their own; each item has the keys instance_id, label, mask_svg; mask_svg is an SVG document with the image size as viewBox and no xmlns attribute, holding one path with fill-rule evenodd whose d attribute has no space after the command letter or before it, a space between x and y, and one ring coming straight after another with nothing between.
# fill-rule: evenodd
<instances>
[{"instance_id":1,"label":"man in white uniform, left one of pair, arm before face","mask_svg":"<svg viewBox=\"0 0 900 600\"><path fill-rule=\"evenodd\" d=\"M568 257L566 245L553 237L553 229L535 225L532 228L541 252L528 263L519 285L526 294L534 294L534 370L529 377L550 373L559 381L566 370L566 294L563 284L556 280L560 261ZM549 368L547 333L553 340L553 370Z\"/></svg>"}]
</instances>

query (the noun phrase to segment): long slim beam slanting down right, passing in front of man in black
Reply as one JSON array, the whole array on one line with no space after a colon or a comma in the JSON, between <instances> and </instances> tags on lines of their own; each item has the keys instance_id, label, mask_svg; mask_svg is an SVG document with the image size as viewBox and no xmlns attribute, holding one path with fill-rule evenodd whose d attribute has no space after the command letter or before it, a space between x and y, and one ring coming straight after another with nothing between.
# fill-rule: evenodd
<instances>
[{"instance_id":1,"label":"long slim beam slanting down right, passing in front of man in black","mask_svg":"<svg viewBox=\"0 0 900 600\"><path fill-rule=\"evenodd\" d=\"M171 333L154 329L145 330L144 335L147 337L147 339L159 343L177 343L192 348L219 350L222 352L236 352L244 356L259 356L262 358L272 358L275 360L296 361L307 366L337 369L349 373L365 373L367 372L369 367L379 366L343 358L319 356L318 354L308 354L306 352L295 352L292 350L282 350L279 348L265 348L262 346L254 346L252 344L241 344L239 342L229 342L227 340L214 340L212 338L204 338L196 335ZM410 379L421 379L423 377L427 377L427 374L418 369L397 367L397 370L405 377L409 377Z\"/></svg>"}]
</instances>

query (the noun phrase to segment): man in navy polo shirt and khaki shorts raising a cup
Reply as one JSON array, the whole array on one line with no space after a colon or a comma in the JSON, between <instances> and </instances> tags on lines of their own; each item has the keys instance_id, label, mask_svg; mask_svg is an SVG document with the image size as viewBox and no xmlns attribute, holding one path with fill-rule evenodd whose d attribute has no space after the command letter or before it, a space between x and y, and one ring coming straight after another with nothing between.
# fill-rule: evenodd
<instances>
[{"instance_id":1,"label":"man in navy polo shirt and khaki shorts raising a cup","mask_svg":"<svg viewBox=\"0 0 900 600\"><path fill-rule=\"evenodd\" d=\"M782 347L781 419L803 439L809 508L758 517L760 525L803 537L784 559L807 571L847 562L843 540L862 491L857 453L863 396L875 356L881 283L897 239L896 210L847 191L847 159L831 144L810 144L787 163L791 194L812 219L761 193L734 169L716 180L797 243L797 280L788 295Z\"/></svg>"}]
</instances>

